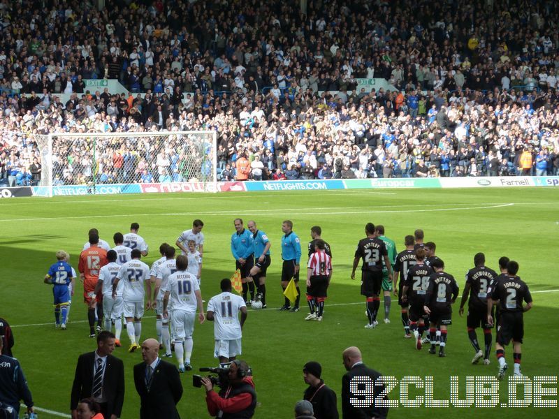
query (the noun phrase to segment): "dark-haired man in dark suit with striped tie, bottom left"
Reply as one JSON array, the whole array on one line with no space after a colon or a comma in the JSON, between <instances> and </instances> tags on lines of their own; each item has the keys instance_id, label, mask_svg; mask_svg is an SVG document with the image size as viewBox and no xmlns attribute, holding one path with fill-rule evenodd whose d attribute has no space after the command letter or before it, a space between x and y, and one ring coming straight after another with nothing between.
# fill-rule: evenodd
<instances>
[{"instance_id":1,"label":"dark-haired man in dark suit with striped tie, bottom left","mask_svg":"<svg viewBox=\"0 0 559 419\"><path fill-rule=\"evenodd\" d=\"M111 355L115 350L115 334L103 330L97 335L97 350L84 353L75 367L70 409L72 418L81 399L93 397L106 419L117 419L124 402L124 364Z\"/></svg>"}]
</instances>

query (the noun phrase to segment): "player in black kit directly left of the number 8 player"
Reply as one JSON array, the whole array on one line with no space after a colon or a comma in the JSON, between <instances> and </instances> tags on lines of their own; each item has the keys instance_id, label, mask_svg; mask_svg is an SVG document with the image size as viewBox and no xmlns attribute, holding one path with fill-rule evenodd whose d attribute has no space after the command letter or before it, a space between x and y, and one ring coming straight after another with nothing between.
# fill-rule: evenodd
<instances>
[{"instance_id":1,"label":"player in black kit directly left of the number 8 player","mask_svg":"<svg viewBox=\"0 0 559 419\"><path fill-rule=\"evenodd\" d=\"M407 271L404 289L402 290L402 302L409 302L409 330L415 337L415 347L421 349L421 336L426 328L426 317L423 306L425 296L429 288L429 279L433 270L425 264L425 250L415 251L416 264Z\"/></svg>"}]
</instances>

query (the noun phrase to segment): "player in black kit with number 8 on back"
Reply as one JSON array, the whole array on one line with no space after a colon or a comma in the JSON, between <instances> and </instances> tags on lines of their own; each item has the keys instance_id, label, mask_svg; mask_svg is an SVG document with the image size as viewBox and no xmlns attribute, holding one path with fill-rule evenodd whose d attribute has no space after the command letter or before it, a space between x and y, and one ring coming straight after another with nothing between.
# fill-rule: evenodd
<instances>
[{"instance_id":1,"label":"player in black kit with number 8 on back","mask_svg":"<svg viewBox=\"0 0 559 419\"><path fill-rule=\"evenodd\" d=\"M447 328L452 324L452 307L458 297L458 285L451 274L444 272L444 262L437 258L431 263L435 273L429 279L429 288L425 297L423 309L429 315L429 335L431 348L429 353L434 354L437 326L441 329L441 346L439 356L444 357L444 348L447 346Z\"/></svg>"}]
</instances>

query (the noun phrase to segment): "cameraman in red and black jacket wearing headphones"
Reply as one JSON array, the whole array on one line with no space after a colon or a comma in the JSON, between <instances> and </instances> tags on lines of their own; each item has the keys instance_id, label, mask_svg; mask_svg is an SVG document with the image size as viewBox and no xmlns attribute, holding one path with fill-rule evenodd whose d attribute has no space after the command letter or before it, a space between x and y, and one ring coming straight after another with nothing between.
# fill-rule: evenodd
<instances>
[{"instance_id":1,"label":"cameraman in red and black jacket wearing headphones","mask_svg":"<svg viewBox=\"0 0 559 419\"><path fill-rule=\"evenodd\" d=\"M228 369L227 386L224 385L224 388L219 390L219 394L213 390L213 383L209 378L201 379L211 416L223 419L252 418L256 407L256 392L254 392L252 376L248 374L247 362L232 361Z\"/></svg>"}]
</instances>

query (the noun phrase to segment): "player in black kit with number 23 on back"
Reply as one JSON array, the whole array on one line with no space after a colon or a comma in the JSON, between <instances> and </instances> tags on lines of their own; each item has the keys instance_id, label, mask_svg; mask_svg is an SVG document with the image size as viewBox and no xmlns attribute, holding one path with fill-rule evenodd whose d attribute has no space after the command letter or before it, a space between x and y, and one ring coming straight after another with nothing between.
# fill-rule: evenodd
<instances>
[{"instance_id":1,"label":"player in black kit with number 23 on back","mask_svg":"<svg viewBox=\"0 0 559 419\"><path fill-rule=\"evenodd\" d=\"M386 251L384 242L375 237L375 225L367 223L365 226L365 237L357 244L355 251L353 270L351 279L355 279L355 270L359 265L359 259L363 259L361 265L361 295L367 297L367 317L369 323L366 329L377 327L377 312L380 307L380 288L382 284L382 259L389 271L389 281L392 280L392 264Z\"/></svg>"}]
</instances>

